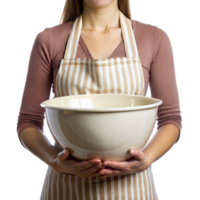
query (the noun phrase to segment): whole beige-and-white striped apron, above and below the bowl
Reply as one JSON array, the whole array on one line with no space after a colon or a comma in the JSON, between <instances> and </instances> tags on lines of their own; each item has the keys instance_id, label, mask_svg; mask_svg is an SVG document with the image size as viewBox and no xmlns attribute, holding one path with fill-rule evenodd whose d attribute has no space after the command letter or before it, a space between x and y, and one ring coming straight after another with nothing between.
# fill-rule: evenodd
<instances>
[{"instance_id":1,"label":"whole beige-and-white striped apron, above and below the bowl","mask_svg":"<svg viewBox=\"0 0 200 200\"><path fill-rule=\"evenodd\" d=\"M55 97L81 94L135 94L144 96L144 77L131 21L120 12L127 57L76 58L82 15L74 22L64 59L56 76ZM62 149L54 142L58 151ZM46 167L40 200L157 200L152 166L122 176L82 178Z\"/></svg>"}]
</instances>

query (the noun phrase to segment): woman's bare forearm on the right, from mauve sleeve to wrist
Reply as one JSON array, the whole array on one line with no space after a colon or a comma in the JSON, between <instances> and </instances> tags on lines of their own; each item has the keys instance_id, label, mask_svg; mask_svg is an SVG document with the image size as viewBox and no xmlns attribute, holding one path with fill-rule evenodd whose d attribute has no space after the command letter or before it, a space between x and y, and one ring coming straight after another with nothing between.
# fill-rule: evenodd
<instances>
[{"instance_id":1,"label":"woman's bare forearm on the right, from mauve sleeve to wrist","mask_svg":"<svg viewBox=\"0 0 200 200\"><path fill-rule=\"evenodd\" d=\"M150 165L162 158L173 147L178 136L179 129L173 124L163 125L156 131L142 150Z\"/></svg>"}]
</instances>

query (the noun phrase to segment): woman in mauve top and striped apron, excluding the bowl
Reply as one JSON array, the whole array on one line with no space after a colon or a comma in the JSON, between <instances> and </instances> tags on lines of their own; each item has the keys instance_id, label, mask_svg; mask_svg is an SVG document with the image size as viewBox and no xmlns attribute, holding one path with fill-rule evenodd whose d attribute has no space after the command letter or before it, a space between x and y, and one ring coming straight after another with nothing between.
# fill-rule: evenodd
<instances>
[{"instance_id":1,"label":"woman in mauve top and striped apron, excluding the bowl","mask_svg":"<svg viewBox=\"0 0 200 200\"><path fill-rule=\"evenodd\" d=\"M93 68L91 59L95 59ZM33 102L29 117L33 113L35 123L30 120L22 127L18 122L23 147L47 164L40 200L159 199L151 167L177 143L181 130L174 65L168 35L156 26L131 19L128 0L65 3L62 23L41 31L31 52L21 116L28 111L25 102L29 98ZM86 84L86 77L90 84ZM98 81L101 78L103 82ZM56 142L52 146L40 131L44 109L39 105L49 98L51 82L55 97L90 93L146 95L149 83L151 96L163 100L158 110L158 130L142 151L133 149L132 153L130 149L132 158L127 161L79 162Z\"/></svg>"}]
</instances>

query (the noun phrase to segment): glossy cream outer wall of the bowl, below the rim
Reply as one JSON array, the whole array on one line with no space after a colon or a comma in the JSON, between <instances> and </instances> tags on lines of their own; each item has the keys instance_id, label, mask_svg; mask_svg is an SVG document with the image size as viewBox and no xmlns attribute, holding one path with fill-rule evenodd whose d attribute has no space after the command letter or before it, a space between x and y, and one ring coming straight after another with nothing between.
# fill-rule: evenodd
<instances>
[{"instance_id":1,"label":"glossy cream outer wall of the bowl, below the rim","mask_svg":"<svg viewBox=\"0 0 200 200\"><path fill-rule=\"evenodd\" d=\"M124 161L142 150L156 122L157 107L126 112L77 112L46 108L50 134L77 160Z\"/></svg>"}]
</instances>

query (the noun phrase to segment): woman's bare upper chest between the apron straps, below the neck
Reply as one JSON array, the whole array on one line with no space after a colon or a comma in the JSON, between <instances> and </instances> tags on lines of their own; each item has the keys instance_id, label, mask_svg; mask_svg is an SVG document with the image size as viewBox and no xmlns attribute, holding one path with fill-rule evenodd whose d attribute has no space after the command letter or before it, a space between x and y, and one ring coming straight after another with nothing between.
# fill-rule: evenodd
<instances>
[{"instance_id":1,"label":"woman's bare upper chest between the apron straps, below the neck","mask_svg":"<svg viewBox=\"0 0 200 200\"><path fill-rule=\"evenodd\" d=\"M93 59L107 59L122 41L121 29L106 34L81 31L83 38Z\"/></svg>"}]
</instances>

